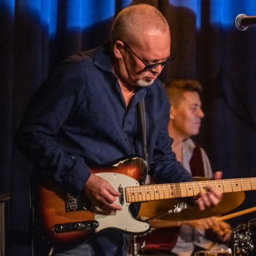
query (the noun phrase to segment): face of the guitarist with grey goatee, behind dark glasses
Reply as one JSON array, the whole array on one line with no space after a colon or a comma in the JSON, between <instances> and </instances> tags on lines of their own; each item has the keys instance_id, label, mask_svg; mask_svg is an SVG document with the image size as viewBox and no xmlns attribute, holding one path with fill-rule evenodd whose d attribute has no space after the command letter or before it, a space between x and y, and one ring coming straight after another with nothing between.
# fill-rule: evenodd
<instances>
[{"instance_id":1,"label":"face of the guitarist with grey goatee, behind dark glasses","mask_svg":"<svg viewBox=\"0 0 256 256\"><path fill-rule=\"evenodd\" d=\"M156 34L148 32L142 39L135 44L131 43L129 45L131 50L125 47L126 53L123 57L120 74L132 85L149 86L159 76L163 67L158 65L150 71L144 71L145 64L143 62L152 64L166 60L170 55L171 40L169 32Z\"/></svg>"}]
</instances>

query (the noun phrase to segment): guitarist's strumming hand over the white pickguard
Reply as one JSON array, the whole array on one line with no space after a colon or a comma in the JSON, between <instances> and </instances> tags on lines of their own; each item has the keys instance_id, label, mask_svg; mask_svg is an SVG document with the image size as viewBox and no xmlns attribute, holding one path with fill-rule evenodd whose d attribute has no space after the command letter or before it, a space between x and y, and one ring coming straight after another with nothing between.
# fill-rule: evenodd
<instances>
[{"instance_id":1,"label":"guitarist's strumming hand over the white pickguard","mask_svg":"<svg viewBox=\"0 0 256 256\"><path fill-rule=\"evenodd\" d=\"M116 197L120 196L119 192L114 190L107 180L100 178L95 174L91 174L84 186L85 196L90 199L92 204L99 206L108 212L112 210L121 211L121 206L114 203Z\"/></svg>"}]
</instances>

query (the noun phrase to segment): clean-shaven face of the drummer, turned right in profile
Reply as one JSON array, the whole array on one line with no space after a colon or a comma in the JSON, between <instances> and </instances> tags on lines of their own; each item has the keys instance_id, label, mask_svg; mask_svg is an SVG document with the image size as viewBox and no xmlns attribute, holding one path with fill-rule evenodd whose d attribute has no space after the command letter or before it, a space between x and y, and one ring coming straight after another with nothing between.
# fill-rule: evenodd
<instances>
[{"instance_id":1,"label":"clean-shaven face of the drummer, turned right in profile","mask_svg":"<svg viewBox=\"0 0 256 256\"><path fill-rule=\"evenodd\" d=\"M171 108L171 121L178 133L185 138L199 133L204 112L201 110L201 100L197 92L183 92L183 99L178 106Z\"/></svg>"}]
</instances>

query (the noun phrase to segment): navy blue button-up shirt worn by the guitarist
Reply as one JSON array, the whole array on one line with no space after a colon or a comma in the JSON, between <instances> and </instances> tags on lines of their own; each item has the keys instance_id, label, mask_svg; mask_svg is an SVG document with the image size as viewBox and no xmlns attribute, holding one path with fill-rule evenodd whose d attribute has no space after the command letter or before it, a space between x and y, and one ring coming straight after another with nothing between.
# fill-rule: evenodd
<instances>
[{"instance_id":1,"label":"navy blue button-up shirt worn by the guitarist","mask_svg":"<svg viewBox=\"0 0 256 256\"><path fill-rule=\"evenodd\" d=\"M170 106L161 82L139 88L126 107L108 44L73 55L55 69L31 98L16 145L36 171L78 196L91 164L144 155L137 108L142 98L151 175L157 183L191 180L171 151Z\"/></svg>"}]
</instances>

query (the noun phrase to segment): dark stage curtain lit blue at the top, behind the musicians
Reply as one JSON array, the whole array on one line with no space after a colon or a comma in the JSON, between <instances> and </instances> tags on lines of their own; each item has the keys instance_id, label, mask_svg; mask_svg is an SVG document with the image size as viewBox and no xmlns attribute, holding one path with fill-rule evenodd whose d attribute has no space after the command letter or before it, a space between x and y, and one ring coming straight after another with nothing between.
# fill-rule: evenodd
<instances>
[{"instance_id":1,"label":"dark stage curtain lit blue at the top, behind the musicians","mask_svg":"<svg viewBox=\"0 0 256 256\"><path fill-rule=\"evenodd\" d=\"M162 81L203 84L205 118L195 139L213 170L256 176L256 26L234 25L237 14L256 15L256 0L0 0L0 192L12 193L10 237L28 230L31 164L13 145L28 99L57 63L107 40L115 15L137 3L154 5L170 24L176 58ZM255 204L255 193L247 195L243 208Z\"/></svg>"}]
</instances>

